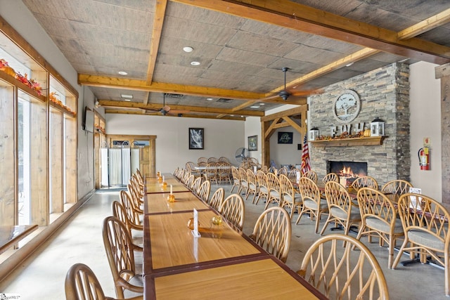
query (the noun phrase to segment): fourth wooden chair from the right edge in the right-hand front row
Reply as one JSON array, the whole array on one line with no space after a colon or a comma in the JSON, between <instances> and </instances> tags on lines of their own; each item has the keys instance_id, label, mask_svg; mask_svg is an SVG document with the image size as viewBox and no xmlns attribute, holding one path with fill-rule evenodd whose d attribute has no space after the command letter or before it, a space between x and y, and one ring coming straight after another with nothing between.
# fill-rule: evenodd
<instances>
[{"instance_id":1,"label":"fourth wooden chair from the right edge in the right-hand front row","mask_svg":"<svg viewBox=\"0 0 450 300\"><path fill-rule=\"evenodd\" d=\"M303 205L295 224L300 222L303 214L309 213L311 215L311 220L313 219L312 216L316 218L315 233L317 233L317 230L319 230L321 214L328 213L328 203L326 202L326 199L321 197L319 187L311 179L300 177L298 188L300 190L300 195L302 195Z\"/></svg>"}]
</instances>

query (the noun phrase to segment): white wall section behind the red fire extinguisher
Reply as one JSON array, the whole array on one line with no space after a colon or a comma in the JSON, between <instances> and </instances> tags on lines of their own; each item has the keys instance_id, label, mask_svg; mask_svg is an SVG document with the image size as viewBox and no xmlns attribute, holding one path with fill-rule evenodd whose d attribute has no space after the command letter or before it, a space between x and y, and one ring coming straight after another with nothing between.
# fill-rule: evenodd
<instances>
[{"instance_id":1,"label":"white wall section behind the red fire extinguisher","mask_svg":"<svg viewBox=\"0 0 450 300\"><path fill-rule=\"evenodd\" d=\"M436 66L423 62L410 66L411 183L424 195L442 201L441 82L435 79ZM420 171L418 164L423 138L431 141L430 171Z\"/></svg>"}]
</instances>

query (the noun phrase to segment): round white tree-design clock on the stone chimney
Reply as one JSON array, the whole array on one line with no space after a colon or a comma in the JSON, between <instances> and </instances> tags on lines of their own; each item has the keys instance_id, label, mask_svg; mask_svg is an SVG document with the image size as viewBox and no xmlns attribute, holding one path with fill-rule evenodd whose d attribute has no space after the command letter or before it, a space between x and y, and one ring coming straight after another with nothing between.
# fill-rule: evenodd
<instances>
[{"instance_id":1,"label":"round white tree-design clock on the stone chimney","mask_svg":"<svg viewBox=\"0 0 450 300\"><path fill-rule=\"evenodd\" d=\"M356 92L346 90L333 103L333 115L340 123L352 122L359 115L361 101Z\"/></svg>"}]
</instances>

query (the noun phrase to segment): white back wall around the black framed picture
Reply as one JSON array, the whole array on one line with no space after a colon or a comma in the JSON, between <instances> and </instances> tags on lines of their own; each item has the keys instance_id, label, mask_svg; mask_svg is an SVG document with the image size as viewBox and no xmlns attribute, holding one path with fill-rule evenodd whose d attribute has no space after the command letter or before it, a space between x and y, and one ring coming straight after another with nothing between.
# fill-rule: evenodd
<instances>
[{"instance_id":1,"label":"white back wall around the black framed picture","mask_svg":"<svg viewBox=\"0 0 450 300\"><path fill-rule=\"evenodd\" d=\"M156 136L156 170L173 172L198 157L227 157L232 164L235 152L245 147L244 122L144 115L106 115L107 134ZM204 150L189 150L189 127L204 128Z\"/></svg>"}]
</instances>

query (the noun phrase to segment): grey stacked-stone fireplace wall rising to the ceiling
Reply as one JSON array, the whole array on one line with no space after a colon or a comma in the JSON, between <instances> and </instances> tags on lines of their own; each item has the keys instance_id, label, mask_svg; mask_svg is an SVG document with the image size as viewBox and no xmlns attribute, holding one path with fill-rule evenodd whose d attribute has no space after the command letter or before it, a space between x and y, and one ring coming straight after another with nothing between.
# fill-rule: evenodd
<instances>
[{"instance_id":1,"label":"grey stacked-stone fireplace wall rising to the ceiling","mask_svg":"<svg viewBox=\"0 0 450 300\"><path fill-rule=\"evenodd\" d=\"M310 143L311 169L323 178L330 162L364 162L366 174L383 185L393 179L410 179L409 153L409 65L393 63L333 84L320 95L309 97L309 128L319 128L321 136L331 136L330 126L340 126L333 116L333 102L340 92L351 89L361 99L361 110L352 124L385 121L381 145L368 145L361 138L357 145ZM354 133L352 126L351 132ZM338 173L338 172L335 172Z\"/></svg>"}]
</instances>

